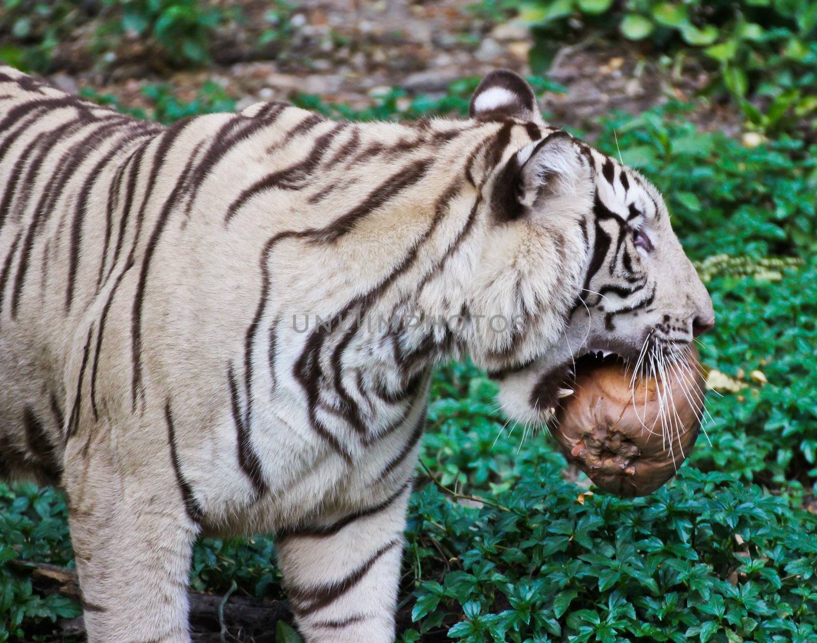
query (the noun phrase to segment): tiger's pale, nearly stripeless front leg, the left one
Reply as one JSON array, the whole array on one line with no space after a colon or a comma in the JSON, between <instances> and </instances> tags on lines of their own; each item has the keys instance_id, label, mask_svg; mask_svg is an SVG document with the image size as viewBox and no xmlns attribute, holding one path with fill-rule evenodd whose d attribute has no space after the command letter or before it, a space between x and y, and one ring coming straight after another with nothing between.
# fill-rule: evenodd
<instances>
[{"instance_id":1,"label":"tiger's pale, nearly stripeless front leg, the left one","mask_svg":"<svg viewBox=\"0 0 817 643\"><path fill-rule=\"evenodd\" d=\"M74 462L63 483L87 640L189 643L187 581L199 525L185 513L167 453L127 471L104 435L89 449L85 440L69 442Z\"/></svg>"}]
</instances>

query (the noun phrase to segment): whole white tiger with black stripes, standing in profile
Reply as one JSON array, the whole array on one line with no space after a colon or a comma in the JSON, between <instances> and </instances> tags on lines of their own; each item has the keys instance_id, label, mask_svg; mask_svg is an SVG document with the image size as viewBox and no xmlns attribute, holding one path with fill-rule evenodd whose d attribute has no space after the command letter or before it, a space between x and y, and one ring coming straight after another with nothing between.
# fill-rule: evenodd
<instances>
[{"instance_id":1,"label":"whole white tiger with black stripes, standing in profile","mask_svg":"<svg viewBox=\"0 0 817 643\"><path fill-rule=\"evenodd\" d=\"M273 531L306 641L392 641L432 364L541 422L574 357L713 321L659 193L511 72L467 120L160 127L0 68L0 475L65 489L89 641L190 641L194 540Z\"/></svg>"}]
</instances>

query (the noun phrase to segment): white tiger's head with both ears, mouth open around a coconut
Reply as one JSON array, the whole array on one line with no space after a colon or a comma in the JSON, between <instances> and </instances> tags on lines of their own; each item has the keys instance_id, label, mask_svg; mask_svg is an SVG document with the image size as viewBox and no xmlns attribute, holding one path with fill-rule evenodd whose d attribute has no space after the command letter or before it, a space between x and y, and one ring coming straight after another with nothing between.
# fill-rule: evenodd
<instances>
[{"instance_id":1,"label":"white tiger's head with both ears, mouth open around a coconut","mask_svg":"<svg viewBox=\"0 0 817 643\"><path fill-rule=\"evenodd\" d=\"M501 310L510 321L471 350L509 417L547 420L586 355L671 363L712 327L708 292L641 174L547 127L509 71L484 78L471 118L541 135L511 150L484 188L490 224L468 302L471 315Z\"/></svg>"}]
</instances>

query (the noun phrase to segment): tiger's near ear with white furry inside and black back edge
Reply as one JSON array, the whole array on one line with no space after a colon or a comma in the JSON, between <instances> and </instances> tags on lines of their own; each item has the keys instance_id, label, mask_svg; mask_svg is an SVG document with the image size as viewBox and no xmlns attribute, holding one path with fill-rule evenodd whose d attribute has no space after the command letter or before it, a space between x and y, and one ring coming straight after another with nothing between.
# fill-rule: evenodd
<instances>
[{"instance_id":1,"label":"tiger's near ear with white furry inside and black back edge","mask_svg":"<svg viewBox=\"0 0 817 643\"><path fill-rule=\"evenodd\" d=\"M493 212L511 221L552 199L583 202L592 194L590 167L567 132L557 130L526 145L508 160L493 190Z\"/></svg>"}]
</instances>

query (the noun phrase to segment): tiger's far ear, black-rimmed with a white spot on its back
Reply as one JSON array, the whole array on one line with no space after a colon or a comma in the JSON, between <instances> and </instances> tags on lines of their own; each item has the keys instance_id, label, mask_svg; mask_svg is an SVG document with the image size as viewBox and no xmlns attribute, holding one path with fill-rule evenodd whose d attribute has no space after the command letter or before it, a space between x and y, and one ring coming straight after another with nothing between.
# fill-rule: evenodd
<instances>
[{"instance_id":1,"label":"tiger's far ear, black-rimmed with a white spot on its back","mask_svg":"<svg viewBox=\"0 0 817 643\"><path fill-rule=\"evenodd\" d=\"M496 69L482 79L471 96L468 114L480 121L514 118L524 123L543 123L534 90L525 78L508 69Z\"/></svg>"}]
</instances>

